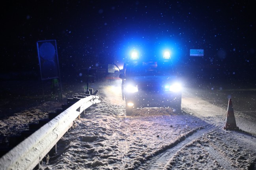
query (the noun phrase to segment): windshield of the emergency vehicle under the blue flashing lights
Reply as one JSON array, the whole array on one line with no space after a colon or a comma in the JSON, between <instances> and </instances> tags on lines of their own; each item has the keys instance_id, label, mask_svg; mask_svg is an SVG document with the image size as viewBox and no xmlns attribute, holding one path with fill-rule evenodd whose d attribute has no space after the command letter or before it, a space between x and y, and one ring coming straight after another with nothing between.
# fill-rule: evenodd
<instances>
[{"instance_id":1,"label":"windshield of the emergency vehicle under the blue flashing lights","mask_svg":"<svg viewBox=\"0 0 256 170\"><path fill-rule=\"evenodd\" d=\"M170 62L131 62L127 64L126 76L169 76L174 75Z\"/></svg>"}]
</instances>

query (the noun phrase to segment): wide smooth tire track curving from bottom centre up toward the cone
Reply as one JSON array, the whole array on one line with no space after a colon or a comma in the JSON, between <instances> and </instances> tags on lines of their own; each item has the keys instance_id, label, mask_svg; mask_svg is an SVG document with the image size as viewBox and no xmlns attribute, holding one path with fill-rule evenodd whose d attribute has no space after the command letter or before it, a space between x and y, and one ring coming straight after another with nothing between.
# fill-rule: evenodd
<instances>
[{"instance_id":1,"label":"wide smooth tire track curving from bottom centre up toward the cone","mask_svg":"<svg viewBox=\"0 0 256 170\"><path fill-rule=\"evenodd\" d=\"M175 142L171 143L166 147L165 150L158 151L157 153L147 157L147 161L144 164L137 167L136 169L147 169L147 170L162 170L168 164L169 160L179 152L186 144L192 142L203 136L206 133L209 133L213 130L214 126L210 125L208 127L199 127L177 139Z\"/></svg>"}]
</instances>

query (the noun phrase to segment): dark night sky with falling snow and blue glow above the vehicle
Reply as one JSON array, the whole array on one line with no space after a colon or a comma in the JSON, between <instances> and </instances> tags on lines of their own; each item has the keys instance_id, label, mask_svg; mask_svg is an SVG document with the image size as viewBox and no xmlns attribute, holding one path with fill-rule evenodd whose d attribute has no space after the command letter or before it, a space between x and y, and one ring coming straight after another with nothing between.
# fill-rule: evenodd
<instances>
[{"instance_id":1,"label":"dark night sky with falling snow and blue glow above the vehicle","mask_svg":"<svg viewBox=\"0 0 256 170\"><path fill-rule=\"evenodd\" d=\"M39 71L36 42L56 39L60 69L123 63L128 49L168 44L177 61L255 73L255 0L11 1L1 5L1 72ZM4 61L4 62L3 62Z\"/></svg>"}]
</instances>

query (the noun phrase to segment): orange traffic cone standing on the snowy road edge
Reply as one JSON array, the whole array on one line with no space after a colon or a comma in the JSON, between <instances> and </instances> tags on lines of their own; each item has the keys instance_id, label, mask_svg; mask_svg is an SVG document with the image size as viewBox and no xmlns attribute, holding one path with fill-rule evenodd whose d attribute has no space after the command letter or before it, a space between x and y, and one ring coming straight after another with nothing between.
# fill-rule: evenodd
<instances>
[{"instance_id":1,"label":"orange traffic cone standing on the snowy road edge","mask_svg":"<svg viewBox=\"0 0 256 170\"><path fill-rule=\"evenodd\" d=\"M234 110L233 110L233 105L232 105L232 100L231 99L229 99L229 101L228 101L228 113L227 113L227 118L226 118L226 126L223 127L223 129L225 129L225 130L239 129L236 126L236 123L235 123L235 114L234 114Z\"/></svg>"}]
</instances>

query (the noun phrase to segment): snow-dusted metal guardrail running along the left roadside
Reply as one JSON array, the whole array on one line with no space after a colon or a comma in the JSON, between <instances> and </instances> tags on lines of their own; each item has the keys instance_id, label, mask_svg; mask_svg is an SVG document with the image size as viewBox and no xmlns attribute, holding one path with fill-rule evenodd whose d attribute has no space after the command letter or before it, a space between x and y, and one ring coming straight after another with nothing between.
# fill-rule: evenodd
<instances>
[{"instance_id":1,"label":"snow-dusted metal guardrail running along the left roadside","mask_svg":"<svg viewBox=\"0 0 256 170\"><path fill-rule=\"evenodd\" d=\"M28 136L0 158L1 170L32 170L72 127L73 121L88 107L100 103L99 96L80 99Z\"/></svg>"}]
</instances>

